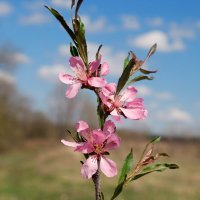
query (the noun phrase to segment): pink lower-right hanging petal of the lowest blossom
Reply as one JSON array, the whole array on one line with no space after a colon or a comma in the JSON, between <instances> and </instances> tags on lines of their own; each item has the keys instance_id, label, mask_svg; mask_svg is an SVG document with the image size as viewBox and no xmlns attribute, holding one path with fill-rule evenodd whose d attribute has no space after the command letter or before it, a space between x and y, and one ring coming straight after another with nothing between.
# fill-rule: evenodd
<instances>
[{"instance_id":1,"label":"pink lower-right hanging petal of the lowest blossom","mask_svg":"<svg viewBox=\"0 0 200 200\"><path fill-rule=\"evenodd\" d=\"M117 175L117 166L114 161L102 156L100 161L100 169L107 177Z\"/></svg>"}]
</instances>

